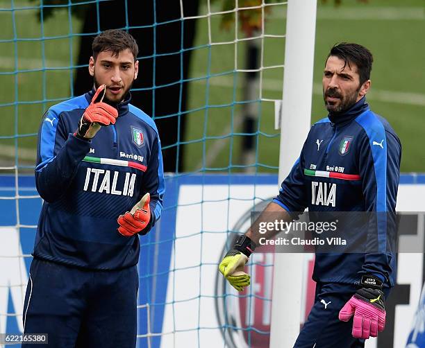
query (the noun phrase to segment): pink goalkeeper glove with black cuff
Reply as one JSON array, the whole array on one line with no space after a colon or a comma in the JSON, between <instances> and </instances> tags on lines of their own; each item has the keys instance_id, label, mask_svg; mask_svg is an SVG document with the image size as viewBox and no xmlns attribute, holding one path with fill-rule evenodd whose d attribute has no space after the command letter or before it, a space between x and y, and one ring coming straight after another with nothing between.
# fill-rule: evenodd
<instances>
[{"instance_id":1,"label":"pink goalkeeper glove with black cuff","mask_svg":"<svg viewBox=\"0 0 425 348\"><path fill-rule=\"evenodd\" d=\"M379 288L360 288L342 307L340 320L348 322L354 315L353 337L378 336L385 327L384 295Z\"/></svg>"}]
</instances>

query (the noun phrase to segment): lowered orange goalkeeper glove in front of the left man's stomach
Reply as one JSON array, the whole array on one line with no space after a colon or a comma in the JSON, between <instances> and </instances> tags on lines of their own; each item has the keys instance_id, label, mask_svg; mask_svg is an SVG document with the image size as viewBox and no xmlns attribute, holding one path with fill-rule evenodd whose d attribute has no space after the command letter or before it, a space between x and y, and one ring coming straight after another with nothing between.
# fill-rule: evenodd
<instances>
[{"instance_id":1,"label":"lowered orange goalkeeper glove in front of the left man's stomach","mask_svg":"<svg viewBox=\"0 0 425 348\"><path fill-rule=\"evenodd\" d=\"M140 233L142 235L149 232L151 226L151 207L149 202L151 195L147 193L142 197L131 211L127 211L124 215L118 217L118 232L126 237L131 237L134 234Z\"/></svg>"}]
</instances>

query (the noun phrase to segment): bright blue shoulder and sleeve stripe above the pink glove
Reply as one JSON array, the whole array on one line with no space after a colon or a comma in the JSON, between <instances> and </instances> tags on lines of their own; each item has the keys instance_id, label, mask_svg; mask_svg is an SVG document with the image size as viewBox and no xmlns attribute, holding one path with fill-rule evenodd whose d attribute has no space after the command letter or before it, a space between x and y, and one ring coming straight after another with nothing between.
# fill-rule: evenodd
<instances>
[{"instance_id":1,"label":"bright blue shoulder and sleeve stripe above the pink glove","mask_svg":"<svg viewBox=\"0 0 425 348\"><path fill-rule=\"evenodd\" d=\"M376 211L387 211L387 138L381 121L371 111L364 112L356 119L369 138L369 146L375 170ZM377 214L378 251L385 252L387 247L387 216Z\"/></svg>"}]
</instances>

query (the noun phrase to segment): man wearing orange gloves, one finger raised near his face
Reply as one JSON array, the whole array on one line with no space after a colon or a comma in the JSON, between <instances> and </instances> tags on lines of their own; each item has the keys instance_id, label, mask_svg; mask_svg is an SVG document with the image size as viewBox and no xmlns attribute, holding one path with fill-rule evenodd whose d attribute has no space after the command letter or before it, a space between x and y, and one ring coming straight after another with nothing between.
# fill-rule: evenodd
<instances>
[{"instance_id":1,"label":"man wearing orange gloves, one finger raised near his face","mask_svg":"<svg viewBox=\"0 0 425 348\"><path fill-rule=\"evenodd\" d=\"M135 347L139 235L165 191L156 125L130 104L138 44L109 30L92 49L93 89L50 107L38 137L44 204L23 320L48 347Z\"/></svg>"}]
</instances>

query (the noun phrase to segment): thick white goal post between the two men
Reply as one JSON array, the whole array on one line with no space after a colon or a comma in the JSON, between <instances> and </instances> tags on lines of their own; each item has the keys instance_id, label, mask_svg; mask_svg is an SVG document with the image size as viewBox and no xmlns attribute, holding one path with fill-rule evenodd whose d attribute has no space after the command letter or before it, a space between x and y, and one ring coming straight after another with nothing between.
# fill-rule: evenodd
<instances>
[{"instance_id":1,"label":"thick white goal post between the two men","mask_svg":"<svg viewBox=\"0 0 425 348\"><path fill-rule=\"evenodd\" d=\"M290 173L310 129L316 0L288 0L281 108L279 184ZM270 348L292 347L301 322L303 254L274 258Z\"/></svg>"}]
</instances>

